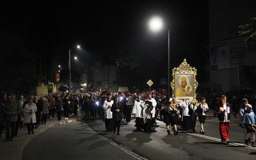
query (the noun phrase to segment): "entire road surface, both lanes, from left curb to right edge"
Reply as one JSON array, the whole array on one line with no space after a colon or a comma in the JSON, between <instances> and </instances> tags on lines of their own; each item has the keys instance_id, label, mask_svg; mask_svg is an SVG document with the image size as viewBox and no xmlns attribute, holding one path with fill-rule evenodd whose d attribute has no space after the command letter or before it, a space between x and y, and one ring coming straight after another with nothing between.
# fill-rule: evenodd
<instances>
[{"instance_id":1,"label":"entire road surface, both lanes, from left curb to right edge","mask_svg":"<svg viewBox=\"0 0 256 160\"><path fill-rule=\"evenodd\" d=\"M205 135L167 135L157 122L151 134L135 132L134 119L122 122L120 136L106 132L98 119L52 127L26 145L22 159L255 159L256 148L244 145L238 119L232 120L228 146L220 143L216 117L207 116Z\"/></svg>"}]
</instances>

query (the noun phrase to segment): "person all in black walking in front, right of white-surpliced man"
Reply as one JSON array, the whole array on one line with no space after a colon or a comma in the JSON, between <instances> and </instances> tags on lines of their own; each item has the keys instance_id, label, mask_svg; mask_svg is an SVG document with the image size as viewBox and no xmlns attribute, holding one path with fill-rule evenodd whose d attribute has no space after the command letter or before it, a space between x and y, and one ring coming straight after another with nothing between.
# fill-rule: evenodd
<instances>
[{"instance_id":1,"label":"person all in black walking in front, right of white-surpliced man","mask_svg":"<svg viewBox=\"0 0 256 160\"><path fill-rule=\"evenodd\" d=\"M123 105L119 102L119 98L116 97L115 102L112 104L111 112L113 113L113 121L114 121L114 134L116 133L117 127L117 135L120 135L120 125L123 114Z\"/></svg>"}]
</instances>

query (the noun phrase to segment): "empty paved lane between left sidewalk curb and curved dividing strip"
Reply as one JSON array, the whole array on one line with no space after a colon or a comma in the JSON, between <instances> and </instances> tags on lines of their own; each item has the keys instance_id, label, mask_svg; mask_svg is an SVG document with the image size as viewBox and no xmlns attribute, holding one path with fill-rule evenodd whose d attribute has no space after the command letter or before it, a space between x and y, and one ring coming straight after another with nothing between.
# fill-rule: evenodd
<instances>
[{"instance_id":1,"label":"empty paved lane between left sidewalk curb and curved dividing strip","mask_svg":"<svg viewBox=\"0 0 256 160\"><path fill-rule=\"evenodd\" d=\"M29 141L22 159L143 159L81 122L52 127Z\"/></svg>"}]
</instances>

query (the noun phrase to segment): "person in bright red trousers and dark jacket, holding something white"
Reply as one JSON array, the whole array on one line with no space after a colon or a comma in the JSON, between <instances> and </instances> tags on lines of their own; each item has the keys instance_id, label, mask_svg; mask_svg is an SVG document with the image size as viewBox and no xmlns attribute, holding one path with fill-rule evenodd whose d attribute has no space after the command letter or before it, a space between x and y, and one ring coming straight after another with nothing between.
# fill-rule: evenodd
<instances>
[{"instance_id":1,"label":"person in bright red trousers and dark jacket, holding something white","mask_svg":"<svg viewBox=\"0 0 256 160\"><path fill-rule=\"evenodd\" d=\"M221 141L228 145L229 143L229 126L231 120L231 106L227 102L227 96L221 95L221 102L216 108L216 114L220 121L220 137Z\"/></svg>"}]
</instances>

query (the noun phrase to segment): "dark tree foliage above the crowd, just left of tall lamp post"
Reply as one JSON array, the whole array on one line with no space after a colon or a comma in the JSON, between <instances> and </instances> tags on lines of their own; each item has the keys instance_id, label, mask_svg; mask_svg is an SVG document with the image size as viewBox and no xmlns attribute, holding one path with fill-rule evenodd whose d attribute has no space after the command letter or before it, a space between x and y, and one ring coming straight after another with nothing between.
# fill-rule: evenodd
<instances>
[{"instance_id":1,"label":"dark tree foliage above the crowd, just left of tall lamp post","mask_svg":"<svg viewBox=\"0 0 256 160\"><path fill-rule=\"evenodd\" d=\"M118 65L115 83L119 86L128 86L129 89L144 90L148 88L147 81L151 79L153 88L161 88L160 79L167 76L166 55L161 51L149 51L136 48L118 52L113 57Z\"/></svg>"}]
</instances>

